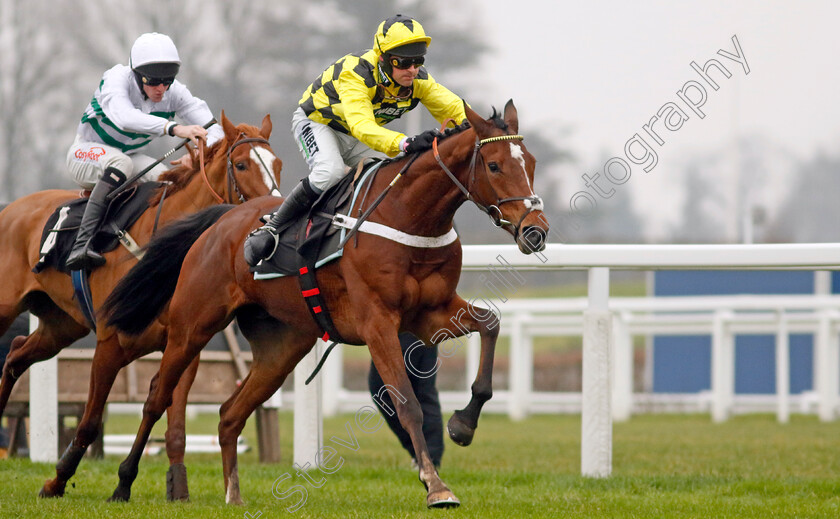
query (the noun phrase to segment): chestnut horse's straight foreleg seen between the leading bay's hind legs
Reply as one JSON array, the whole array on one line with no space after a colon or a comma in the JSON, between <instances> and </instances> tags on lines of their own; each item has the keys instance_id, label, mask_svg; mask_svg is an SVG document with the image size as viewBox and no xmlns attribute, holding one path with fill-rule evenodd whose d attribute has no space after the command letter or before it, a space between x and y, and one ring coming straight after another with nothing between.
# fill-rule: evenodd
<instances>
[{"instance_id":1,"label":"chestnut horse's straight foreleg seen between the leading bay's hind legs","mask_svg":"<svg viewBox=\"0 0 840 519\"><path fill-rule=\"evenodd\" d=\"M166 454L169 456L169 471L166 473L166 498L170 501L189 501L187 467L184 465L184 451L187 447L186 408L190 387L198 372L199 357L193 359L187 371L172 394L172 405L166 410Z\"/></svg>"}]
</instances>

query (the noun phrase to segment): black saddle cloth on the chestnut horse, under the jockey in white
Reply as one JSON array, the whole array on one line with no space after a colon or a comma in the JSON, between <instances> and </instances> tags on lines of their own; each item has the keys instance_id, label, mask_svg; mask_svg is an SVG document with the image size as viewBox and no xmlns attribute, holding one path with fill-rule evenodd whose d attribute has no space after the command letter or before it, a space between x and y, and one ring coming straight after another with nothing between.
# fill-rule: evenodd
<instances>
[{"instance_id":1,"label":"black saddle cloth on the chestnut horse, under the jockey in white","mask_svg":"<svg viewBox=\"0 0 840 519\"><path fill-rule=\"evenodd\" d=\"M149 208L149 199L160 185L159 182L138 183L117 195L108 205L99 229L91 240L94 250L100 253L109 252L114 250L121 240L125 241L128 236L125 230ZM41 256L32 272L37 274L52 267L69 273L64 263L76 241L87 200L71 200L58 206L50 215L41 234Z\"/></svg>"}]
</instances>

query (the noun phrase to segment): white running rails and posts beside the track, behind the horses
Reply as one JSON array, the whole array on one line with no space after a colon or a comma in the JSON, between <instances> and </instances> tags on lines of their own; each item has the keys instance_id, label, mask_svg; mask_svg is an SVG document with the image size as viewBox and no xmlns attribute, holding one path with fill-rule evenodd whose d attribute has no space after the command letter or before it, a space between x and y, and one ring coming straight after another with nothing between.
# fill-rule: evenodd
<instances>
[{"instance_id":1,"label":"white running rails and posts beside the track, behind the horses","mask_svg":"<svg viewBox=\"0 0 840 519\"><path fill-rule=\"evenodd\" d=\"M750 244L750 245L549 245L545 251L523 255L512 245L478 245L465 246L463 255L464 270L483 271L490 265L498 268L504 261L508 271L517 270L588 270L589 298L584 303L581 300L561 302L558 300L542 300L540 309L549 309L551 305L562 306L571 304L576 307L577 316L565 319L555 318L549 312L541 316L540 312L520 312L513 319L508 318L509 312L514 312L520 305L515 300L508 300L500 305L504 319L503 330L513 327L514 332L532 327L532 334L539 332L539 326L548 329L565 329L569 333L583 336L583 394L580 402L582 421L582 452L581 472L585 476L604 477L612 471L612 420L626 418L640 402L634 402L638 396L632 394L632 341L628 338L633 334L651 333L651 330L668 326L673 330L709 330L713 337L713 375L711 395L708 396L709 406L715 420L725 419L737 407L738 401L734 397L733 385L733 334L745 333L742 330L762 330L775 333L777 340L777 415L780 420L787 419L790 412L791 398L787 395L789 381L787 381L788 334L808 331L815 333L814 366L815 366L815 395L818 413L821 419L831 420L835 417L838 405L838 329L840 329L840 304L831 296L784 296L785 301L771 301L762 296L750 300L746 297L740 303L734 299L705 300L703 304L711 303L712 318L689 318L651 316L650 312L658 312L656 303L645 302L645 299L627 300L619 302L609 299L609 270L671 270L671 269L805 269L832 270L840 268L840 245L824 243L802 244ZM680 302L677 301L679 299ZM668 302L669 308L685 306L686 309L697 301L693 298L673 298ZM549 304L549 301L552 301ZM750 315L745 317L738 310L759 303L773 303L769 313ZM765 307L767 305L764 305ZM797 310L798 309L798 310ZM804 313L803 313L804 312ZM584 318L581 318L581 314ZM540 321L542 319L542 321ZM670 322L669 322L670 319ZM691 322L694 319L696 322ZM575 320L578 321L575 324ZM533 322L532 322L533 321ZM582 327L581 327L581 323ZM564 328L565 327L565 328ZM518 330L518 331L516 331ZM536 330L536 332L534 332ZM688 333L688 332L685 332ZM758 332L753 332L758 333ZM529 354L528 334L520 335L519 344ZM522 339L524 337L524 339ZM512 341L513 342L513 341ZM475 373L477 367L477 343L471 339L467 351L467 372ZM335 355L338 350L333 353ZM327 412L341 407L341 402L347 397L341 389L340 376L331 378L330 373L340 372L340 356L330 359L324 372L319 376L325 380L323 388L324 408ZM513 362L513 359L512 359ZM332 366L332 367L331 367ZM516 361L516 368L511 372L511 388L501 400L507 401L507 409L512 415L522 417L539 400L532 392L530 381L531 365L523 359ZM296 371L296 378L306 377L309 373ZM38 381L35 381L35 380ZM334 382L338 380L338 382ZM41 388L51 387L49 382L33 377L34 384ZM297 388L296 388L297 389ZM321 393L322 388L311 384L301 389L304 399L312 398L307 391ZM297 391L296 391L297 392ZM290 395L285 395L288 398ZM446 405L450 395L441 395ZM34 398L34 397L33 397ZM574 400L572 397L571 400ZM49 409L50 399L56 399L55 394L41 396L35 402L34 408ZM530 404L529 399L531 399ZM568 399L567 399L568 400ZM369 397L367 402L369 402ZM491 401L492 403L493 401ZM524 404L524 405L523 405ZM361 405L367 405L362 403ZM463 405L463 404L461 404ZM529 407L529 405L531 407ZM42 407L43 406L43 407ZM318 406L314 406L316 409ZM299 410L302 416L295 420L302 420L310 424L321 423L321 411L310 411L308 407ZM309 412L316 416L303 416ZM50 421L33 424L33 427L51 426ZM300 429L300 431L298 430ZM304 430L305 427L295 428L295 443L311 443L313 437L320 437L319 430ZM34 431L33 434L41 434ZM45 434L49 434L47 430ZM45 443L46 444L46 443ZM56 442L52 441L52 445ZM320 446L311 445L309 449L317 451ZM295 449L295 462L311 459L313 453L301 452L298 459L298 449Z\"/></svg>"}]
</instances>

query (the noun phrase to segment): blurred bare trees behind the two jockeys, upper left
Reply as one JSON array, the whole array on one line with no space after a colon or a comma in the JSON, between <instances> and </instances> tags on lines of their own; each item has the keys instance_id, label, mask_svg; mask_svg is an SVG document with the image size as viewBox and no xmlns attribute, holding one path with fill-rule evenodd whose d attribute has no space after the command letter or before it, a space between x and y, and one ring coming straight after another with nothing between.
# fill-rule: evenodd
<instances>
[{"instance_id":1,"label":"blurred bare trees behind the two jockeys, upper left","mask_svg":"<svg viewBox=\"0 0 840 519\"><path fill-rule=\"evenodd\" d=\"M179 79L217 117L224 109L237 121L256 124L272 114L272 145L286 164L284 184L291 185L306 174L288 130L303 90L335 59L370 48L381 20L401 12L422 21L434 39L429 58L436 76L458 71L460 78L461 70L487 52L474 30L479 22L469 20L470 30L453 26L440 5L32 0L23 9L17 0L0 0L0 201L72 187L63 174L64 154L84 106L103 71L128 64L134 39L149 31L172 36L183 61ZM456 93L469 99L466 90ZM420 126L435 124L423 115ZM553 140L531 140L540 149L541 166L546 157L557 156Z\"/></svg>"}]
</instances>

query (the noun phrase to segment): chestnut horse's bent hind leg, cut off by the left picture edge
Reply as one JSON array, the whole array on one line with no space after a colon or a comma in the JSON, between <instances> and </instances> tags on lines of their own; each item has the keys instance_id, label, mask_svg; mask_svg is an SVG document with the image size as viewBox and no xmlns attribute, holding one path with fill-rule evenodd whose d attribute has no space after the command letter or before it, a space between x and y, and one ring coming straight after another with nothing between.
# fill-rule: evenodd
<instances>
[{"instance_id":1,"label":"chestnut horse's bent hind leg, cut off by the left picture edge","mask_svg":"<svg viewBox=\"0 0 840 519\"><path fill-rule=\"evenodd\" d=\"M84 337L88 329L52 303L39 308L38 328L28 336L18 336L11 344L0 380L0 417L12 389L32 364L55 357L58 352Z\"/></svg>"}]
</instances>

